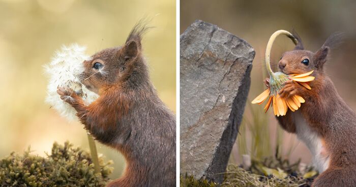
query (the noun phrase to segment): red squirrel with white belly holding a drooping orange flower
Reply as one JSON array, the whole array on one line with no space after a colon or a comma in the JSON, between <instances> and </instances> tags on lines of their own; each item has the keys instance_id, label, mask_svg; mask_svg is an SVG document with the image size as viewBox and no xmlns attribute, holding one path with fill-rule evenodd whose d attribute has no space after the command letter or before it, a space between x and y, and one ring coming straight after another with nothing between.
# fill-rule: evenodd
<instances>
[{"instance_id":1,"label":"red squirrel with white belly holding a drooping orange flower","mask_svg":"<svg viewBox=\"0 0 356 187\"><path fill-rule=\"evenodd\" d=\"M298 45L282 55L278 69L287 75L314 70L315 80L310 82L311 90L292 80L285 83L280 96L299 95L305 103L299 110L288 110L277 119L284 130L295 133L311 151L313 164L320 173L312 186L356 186L356 114L338 95L323 68L342 34L330 36L315 53L304 50L301 38L293 35ZM269 86L269 79L264 83Z\"/></svg>"}]
</instances>

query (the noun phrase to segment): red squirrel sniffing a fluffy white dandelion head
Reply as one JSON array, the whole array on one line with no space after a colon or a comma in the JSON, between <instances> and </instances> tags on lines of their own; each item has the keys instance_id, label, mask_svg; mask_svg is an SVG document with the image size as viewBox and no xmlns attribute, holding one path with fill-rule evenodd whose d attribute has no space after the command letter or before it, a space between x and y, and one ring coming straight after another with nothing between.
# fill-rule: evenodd
<instances>
[{"instance_id":1,"label":"red squirrel sniffing a fluffy white dandelion head","mask_svg":"<svg viewBox=\"0 0 356 187\"><path fill-rule=\"evenodd\" d=\"M141 46L148 28L136 24L123 46L83 62L81 82L99 95L92 104L69 88L57 90L96 140L124 155L126 170L110 187L175 186L175 115L150 81Z\"/></svg>"}]
</instances>

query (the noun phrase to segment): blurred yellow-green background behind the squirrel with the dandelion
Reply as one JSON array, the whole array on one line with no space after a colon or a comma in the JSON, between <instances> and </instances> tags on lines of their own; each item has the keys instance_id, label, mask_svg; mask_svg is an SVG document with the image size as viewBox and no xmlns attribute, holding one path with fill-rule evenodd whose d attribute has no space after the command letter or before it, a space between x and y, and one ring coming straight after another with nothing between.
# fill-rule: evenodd
<instances>
[{"instance_id":1,"label":"blurred yellow-green background behind the squirrel with the dandelion","mask_svg":"<svg viewBox=\"0 0 356 187\"><path fill-rule=\"evenodd\" d=\"M88 150L86 132L44 102L43 65L61 45L77 42L87 54L126 41L133 25L152 18L156 26L143 38L144 54L159 97L175 112L175 1L0 0L0 158L31 145L50 152L54 141L69 140ZM114 161L117 178L125 162L120 153L97 144Z\"/></svg>"}]
</instances>

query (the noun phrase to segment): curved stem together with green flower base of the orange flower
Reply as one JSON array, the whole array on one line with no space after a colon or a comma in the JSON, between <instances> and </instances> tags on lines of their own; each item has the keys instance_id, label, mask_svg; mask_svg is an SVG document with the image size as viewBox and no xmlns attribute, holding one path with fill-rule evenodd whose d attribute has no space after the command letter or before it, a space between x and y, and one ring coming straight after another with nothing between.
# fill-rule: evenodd
<instances>
[{"instance_id":1,"label":"curved stem together with green flower base of the orange flower","mask_svg":"<svg viewBox=\"0 0 356 187\"><path fill-rule=\"evenodd\" d=\"M271 96L276 96L279 90L283 87L285 81L288 80L288 75L282 72L274 73L271 69L270 56L273 42L279 35L285 35L292 40L292 42L296 45L298 41L294 38L292 34L290 34L286 30L277 30L272 34L270 40L267 43L266 52L265 52L265 63L268 74L270 74L270 88L271 88Z\"/></svg>"}]
</instances>

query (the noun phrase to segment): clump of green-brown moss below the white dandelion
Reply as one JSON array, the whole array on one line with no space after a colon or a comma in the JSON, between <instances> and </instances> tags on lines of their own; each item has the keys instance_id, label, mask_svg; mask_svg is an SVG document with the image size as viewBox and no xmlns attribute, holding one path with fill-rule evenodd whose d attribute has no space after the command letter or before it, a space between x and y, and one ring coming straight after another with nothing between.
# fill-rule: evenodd
<instances>
[{"instance_id":1,"label":"clump of green-brown moss below the white dandelion","mask_svg":"<svg viewBox=\"0 0 356 187\"><path fill-rule=\"evenodd\" d=\"M95 174L90 154L69 142L54 143L50 155L40 157L28 148L0 160L0 186L105 186L112 161L99 158L101 174Z\"/></svg>"}]
</instances>

